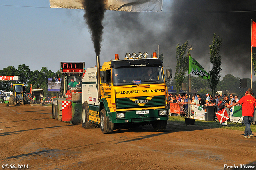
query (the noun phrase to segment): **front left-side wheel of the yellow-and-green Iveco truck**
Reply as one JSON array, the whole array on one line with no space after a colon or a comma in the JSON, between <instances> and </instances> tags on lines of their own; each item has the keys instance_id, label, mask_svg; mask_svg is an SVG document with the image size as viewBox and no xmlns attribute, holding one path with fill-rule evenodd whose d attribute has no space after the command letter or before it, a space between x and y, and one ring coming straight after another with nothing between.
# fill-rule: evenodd
<instances>
[{"instance_id":1,"label":"front left-side wheel of the yellow-and-green Iveco truck","mask_svg":"<svg viewBox=\"0 0 256 170\"><path fill-rule=\"evenodd\" d=\"M104 134L112 133L114 130L114 123L109 121L109 117L106 116L106 110L100 110L100 130Z\"/></svg>"}]
</instances>

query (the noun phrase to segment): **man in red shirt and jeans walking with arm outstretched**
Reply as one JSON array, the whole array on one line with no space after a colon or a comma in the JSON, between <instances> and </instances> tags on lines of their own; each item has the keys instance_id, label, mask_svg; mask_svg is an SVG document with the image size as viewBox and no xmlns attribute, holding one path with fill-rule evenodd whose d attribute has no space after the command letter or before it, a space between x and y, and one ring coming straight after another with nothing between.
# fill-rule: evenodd
<instances>
[{"instance_id":1,"label":"man in red shirt and jeans walking with arm outstretched","mask_svg":"<svg viewBox=\"0 0 256 170\"><path fill-rule=\"evenodd\" d=\"M251 130L251 124L252 124L252 117L254 114L254 108L256 108L256 100L252 95L252 89L248 88L248 94L244 97L242 97L238 102L235 104L230 104L227 106L227 108L231 108L233 106L236 106L238 104L242 104L242 116L244 119L244 137L245 138L252 138L252 130Z\"/></svg>"}]
</instances>

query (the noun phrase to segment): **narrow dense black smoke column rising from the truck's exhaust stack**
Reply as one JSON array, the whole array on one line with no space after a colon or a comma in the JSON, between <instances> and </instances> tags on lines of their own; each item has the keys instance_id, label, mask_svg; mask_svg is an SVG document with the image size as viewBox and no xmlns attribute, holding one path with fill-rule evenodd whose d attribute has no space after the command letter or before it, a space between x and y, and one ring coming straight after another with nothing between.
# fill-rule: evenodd
<instances>
[{"instance_id":1,"label":"narrow dense black smoke column rising from the truck's exhaust stack","mask_svg":"<svg viewBox=\"0 0 256 170\"><path fill-rule=\"evenodd\" d=\"M84 20L90 29L94 51L100 56L100 45L102 42L103 26L102 20L105 12L105 0L83 0L85 10Z\"/></svg>"}]
</instances>

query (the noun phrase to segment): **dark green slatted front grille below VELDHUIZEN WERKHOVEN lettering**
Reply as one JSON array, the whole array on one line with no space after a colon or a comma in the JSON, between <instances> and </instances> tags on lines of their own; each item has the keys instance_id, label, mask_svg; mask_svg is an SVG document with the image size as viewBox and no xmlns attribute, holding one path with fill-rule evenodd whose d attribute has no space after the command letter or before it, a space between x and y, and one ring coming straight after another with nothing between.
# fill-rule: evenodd
<instances>
[{"instance_id":1,"label":"dark green slatted front grille below VELDHUIZEN WERKHOVEN lettering","mask_svg":"<svg viewBox=\"0 0 256 170\"><path fill-rule=\"evenodd\" d=\"M145 100L148 96L136 97L137 100ZM159 107L165 106L165 96L154 96L148 103L139 106L129 98L116 98L116 108L144 108L144 107Z\"/></svg>"}]
</instances>

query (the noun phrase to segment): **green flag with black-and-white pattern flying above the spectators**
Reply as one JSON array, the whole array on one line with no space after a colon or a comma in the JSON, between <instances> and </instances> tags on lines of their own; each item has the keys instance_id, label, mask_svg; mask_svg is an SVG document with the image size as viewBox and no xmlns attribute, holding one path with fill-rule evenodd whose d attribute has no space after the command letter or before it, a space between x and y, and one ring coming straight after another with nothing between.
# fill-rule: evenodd
<instances>
[{"instance_id":1,"label":"green flag with black-and-white pattern flying above the spectators","mask_svg":"<svg viewBox=\"0 0 256 170\"><path fill-rule=\"evenodd\" d=\"M189 56L188 74L200 76L203 79L209 79L209 74L194 58Z\"/></svg>"}]
</instances>

